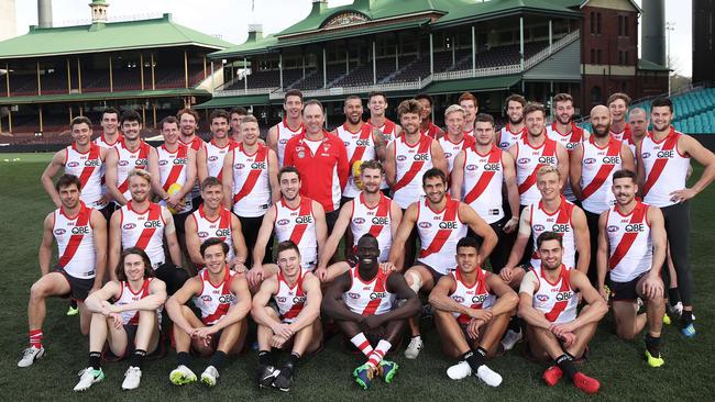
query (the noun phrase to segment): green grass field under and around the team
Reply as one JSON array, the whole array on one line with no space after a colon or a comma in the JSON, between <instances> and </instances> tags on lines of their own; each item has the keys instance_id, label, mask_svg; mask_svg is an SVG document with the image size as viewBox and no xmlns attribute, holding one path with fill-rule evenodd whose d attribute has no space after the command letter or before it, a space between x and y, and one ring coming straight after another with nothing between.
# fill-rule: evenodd
<instances>
[{"instance_id":1,"label":"green grass field under and around the team","mask_svg":"<svg viewBox=\"0 0 715 402\"><path fill-rule=\"evenodd\" d=\"M19 161L12 161L20 158ZM517 350L490 362L502 373L498 389L487 388L475 378L454 382L446 369L453 361L440 353L440 339L429 322L424 325L426 349L417 360L406 360L400 348L393 358L402 366L395 381L387 386L375 382L369 391L352 382L352 369L362 358L344 353L338 337L331 338L326 349L306 359L296 373L296 384L289 394L274 390L258 390L254 382L256 354L230 359L218 384L207 389L202 384L177 388L169 383L168 372L176 366L174 353L164 359L146 361L142 386L131 393L122 393L121 381L125 362L105 364L107 379L84 394L72 389L77 383L77 371L87 365L87 338L79 334L78 317L67 317L67 302L59 299L47 303L44 325L44 359L28 369L15 366L28 345L26 303L30 287L40 276L37 247L42 237L42 221L53 210L40 185L40 175L50 160L48 154L0 154L0 222L3 223L3 245L0 247L2 280L0 294L7 302L0 310L0 390L6 401L119 401L119 400L528 400L561 401L586 399L569 381L549 388L540 379L544 366L532 364ZM4 161L8 159L10 161ZM695 169L698 177L702 169ZM591 358L583 371L602 381L604 400L704 400L715 395L713 369L707 362L713 356L715 299L710 290L715 286L710 247L715 243L715 219L712 203L715 187L701 193L692 208L692 268L695 281L695 339L686 340L675 326L664 328L663 354L666 366L649 368L642 358L642 337L635 342L619 340L613 331L613 321L606 316L591 344ZM710 211L710 212L708 212ZM207 360L194 360L191 368L200 373ZM710 368L708 368L710 367Z\"/></svg>"}]
</instances>

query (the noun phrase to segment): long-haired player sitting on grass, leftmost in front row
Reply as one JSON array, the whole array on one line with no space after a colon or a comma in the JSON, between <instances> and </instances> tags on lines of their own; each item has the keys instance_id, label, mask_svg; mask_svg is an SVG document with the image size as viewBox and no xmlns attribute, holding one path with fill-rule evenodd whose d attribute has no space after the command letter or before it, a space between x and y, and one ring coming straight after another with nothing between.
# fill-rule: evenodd
<instances>
[{"instance_id":1,"label":"long-haired player sitting on grass, leftmost in front row","mask_svg":"<svg viewBox=\"0 0 715 402\"><path fill-rule=\"evenodd\" d=\"M90 294L85 305L91 315L89 325L89 367L79 372L75 391L85 391L105 379L100 367L102 348L120 358L129 357L123 390L133 390L142 379L144 356L160 344L158 311L166 301L166 286L154 278L152 263L138 247L125 249L116 269L117 280ZM113 302L110 302L113 300Z\"/></svg>"}]
</instances>

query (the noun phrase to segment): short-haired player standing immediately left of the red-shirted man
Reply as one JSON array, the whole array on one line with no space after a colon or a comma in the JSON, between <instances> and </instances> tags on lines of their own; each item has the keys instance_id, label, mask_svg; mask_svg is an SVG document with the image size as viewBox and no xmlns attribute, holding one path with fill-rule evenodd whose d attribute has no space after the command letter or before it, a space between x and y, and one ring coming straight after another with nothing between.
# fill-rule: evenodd
<instances>
[{"instance_id":1,"label":"short-haired player standing immediately left of the red-shirted man","mask_svg":"<svg viewBox=\"0 0 715 402\"><path fill-rule=\"evenodd\" d=\"M253 250L268 208L280 199L278 158L268 146L258 142L258 121L250 115L241 122L243 142L222 159L223 203L239 216L249 253ZM273 257L273 241L263 263ZM253 265L251 255L246 266Z\"/></svg>"}]
</instances>

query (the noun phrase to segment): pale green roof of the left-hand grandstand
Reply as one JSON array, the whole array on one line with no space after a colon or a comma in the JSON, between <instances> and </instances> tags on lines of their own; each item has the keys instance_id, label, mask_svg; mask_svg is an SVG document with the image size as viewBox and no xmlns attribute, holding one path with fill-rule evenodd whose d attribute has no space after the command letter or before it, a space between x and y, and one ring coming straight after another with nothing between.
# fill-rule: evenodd
<instances>
[{"instance_id":1,"label":"pale green roof of the left-hand grandstand","mask_svg":"<svg viewBox=\"0 0 715 402\"><path fill-rule=\"evenodd\" d=\"M36 27L0 42L0 59L57 56L136 48L200 46L223 49L231 43L179 25L172 14L158 19L105 24Z\"/></svg>"}]
</instances>

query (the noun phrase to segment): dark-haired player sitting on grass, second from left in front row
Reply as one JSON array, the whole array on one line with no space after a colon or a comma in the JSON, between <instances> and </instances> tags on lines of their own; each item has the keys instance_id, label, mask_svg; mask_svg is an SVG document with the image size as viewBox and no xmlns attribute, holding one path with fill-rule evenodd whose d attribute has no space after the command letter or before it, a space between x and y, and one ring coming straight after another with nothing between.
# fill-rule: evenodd
<instances>
[{"instance_id":1,"label":"dark-haired player sitting on grass, second from left in front row","mask_svg":"<svg viewBox=\"0 0 715 402\"><path fill-rule=\"evenodd\" d=\"M211 355L209 366L201 373L201 382L216 386L226 355L238 354L243 348L248 330L251 292L245 277L227 266L229 245L211 237L201 244L200 252L206 268L187 280L166 302L166 312L174 322L178 362L169 373L169 381L176 386L196 381L196 375L188 368L189 348L200 356ZM186 305L189 299L194 299L200 319Z\"/></svg>"}]
</instances>

